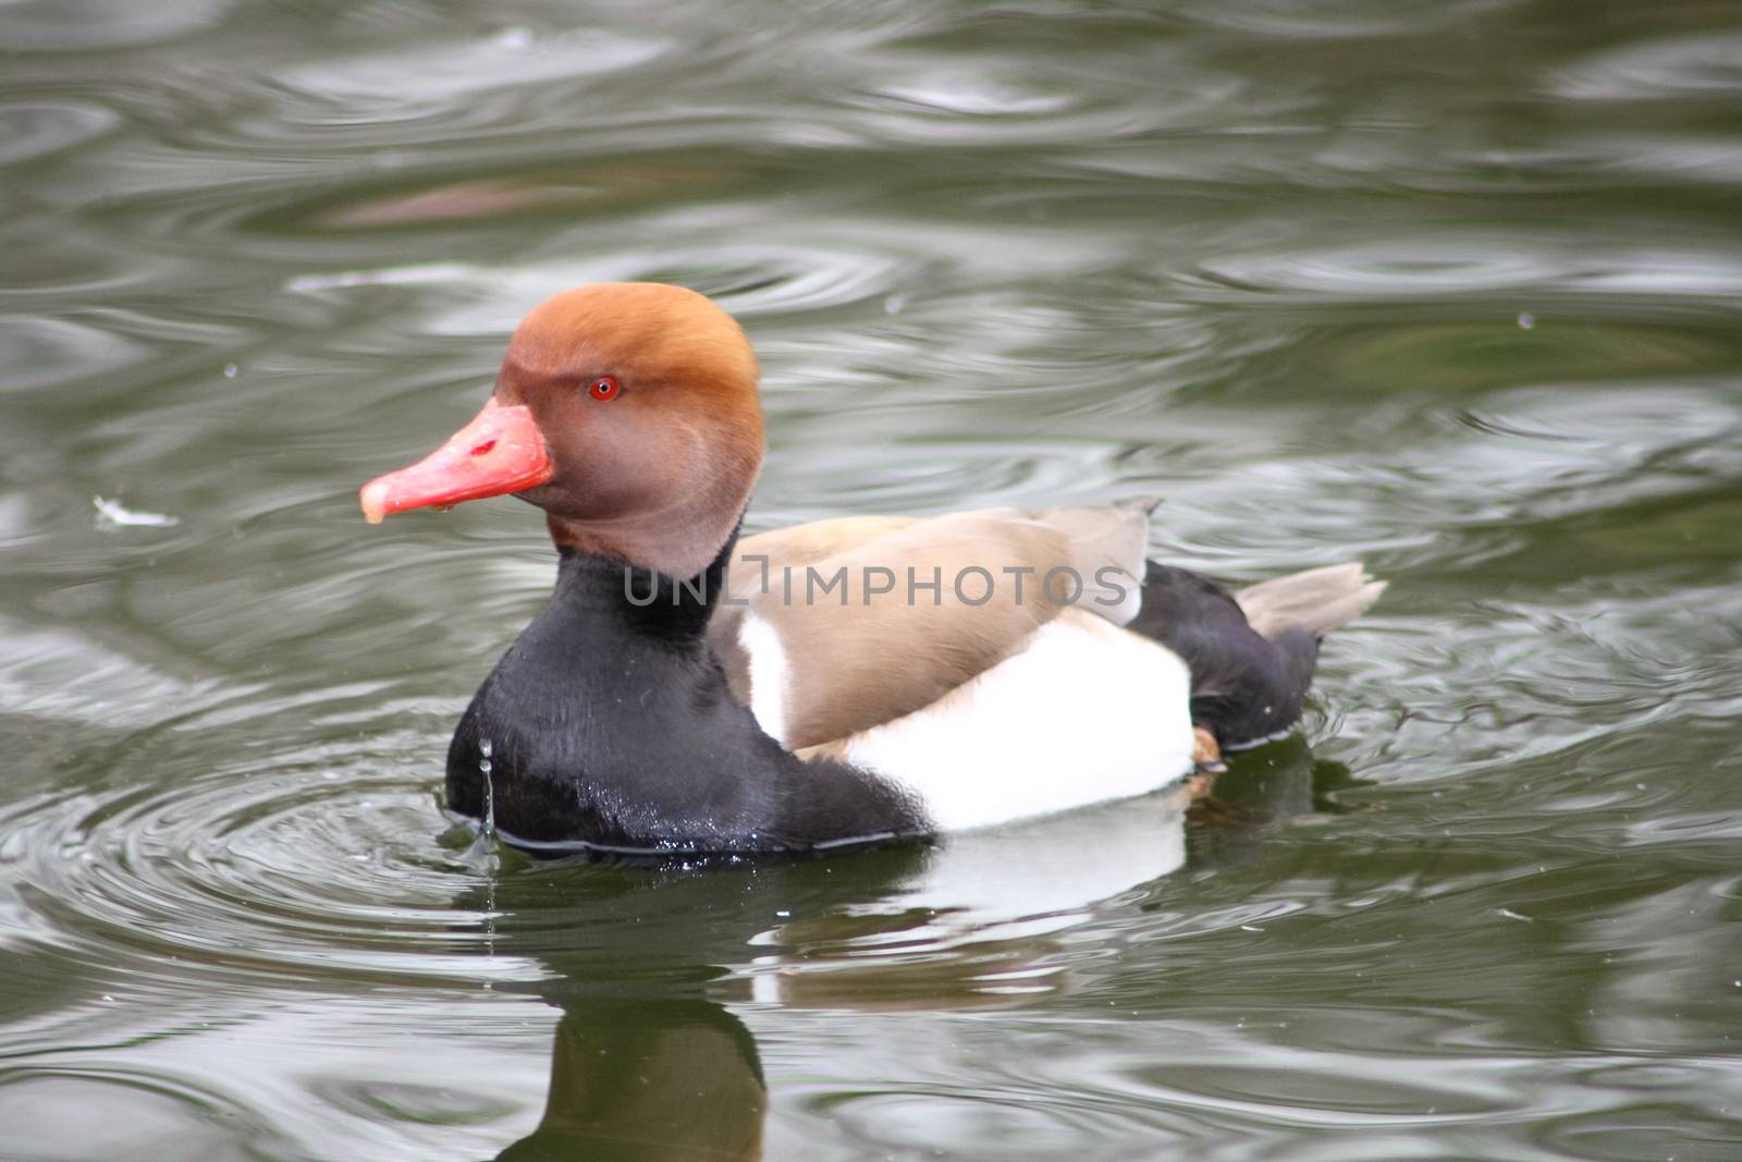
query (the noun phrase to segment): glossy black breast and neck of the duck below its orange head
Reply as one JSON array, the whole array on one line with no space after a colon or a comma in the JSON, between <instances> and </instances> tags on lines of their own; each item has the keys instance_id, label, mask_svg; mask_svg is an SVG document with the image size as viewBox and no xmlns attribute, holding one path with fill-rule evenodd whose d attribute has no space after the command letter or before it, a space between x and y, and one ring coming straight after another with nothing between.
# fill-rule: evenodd
<instances>
[{"instance_id":1,"label":"glossy black breast and neck of the duck below its orange head","mask_svg":"<svg viewBox=\"0 0 1742 1162\"><path fill-rule=\"evenodd\" d=\"M634 570L629 592L622 561L563 549L550 603L460 718L449 807L484 815L488 749L496 828L533 850L803 852L928 833L887 782L798 760L733 700L702 636L733 544L683 584Z\"/></svg>"}]
</instances>

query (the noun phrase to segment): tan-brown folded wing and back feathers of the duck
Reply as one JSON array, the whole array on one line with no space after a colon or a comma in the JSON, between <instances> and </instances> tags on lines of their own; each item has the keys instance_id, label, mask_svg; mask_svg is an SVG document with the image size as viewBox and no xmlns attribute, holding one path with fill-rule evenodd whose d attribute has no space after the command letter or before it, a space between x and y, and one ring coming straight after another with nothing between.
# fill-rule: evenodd
<instances>
[{"instance_id":1,"label":"tan-brown folded wing and back feathers of the duck","mask_svg":"<svg viewBox=\"0 0 1742 1162\"><path fill-rule=\"evenodd\" d=\"M749 702L739 632L746 617L766 622L786 657L782 742L817 746L928 706L1003 660L1071 598L1070 577L1043 584L1050 570L1082 580L1071 605L1129 622L1146 542L1148 514L1138 505L845 517L777 530L733 552L728 591L747 605L716 610L709 638L733 693ZM758 557L766 557L768 592ZM890 578L894 591L873 592Z\"/></svg>"}]
</instances>

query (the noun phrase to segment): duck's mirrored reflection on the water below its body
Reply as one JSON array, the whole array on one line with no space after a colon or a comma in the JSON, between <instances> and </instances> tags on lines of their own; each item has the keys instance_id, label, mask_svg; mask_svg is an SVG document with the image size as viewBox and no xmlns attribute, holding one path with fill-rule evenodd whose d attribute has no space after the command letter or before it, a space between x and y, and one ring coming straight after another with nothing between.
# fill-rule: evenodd
<instances>
[{"instance_id":1,"label":"duck's mirrored reflection on the water below its body","mask_svg":"<svg viewBox=\"0 0 1742 1162\"><path fill-rule=\"evenodd\" d=\"M988 1009L1068 991L1061 936L1136 904L1190 861L1263 852L1263 831L1347 770L1298 739L1188 789L932 847L709 869L533 866L498 876L496 949L563 1010L538 1127L498 1157L760 1159L768 1094L733 1009ZM1122 897L1125 897L1122 901ZM486 901L469 899L467 906Z\"/></svg>"}]
</instances>

